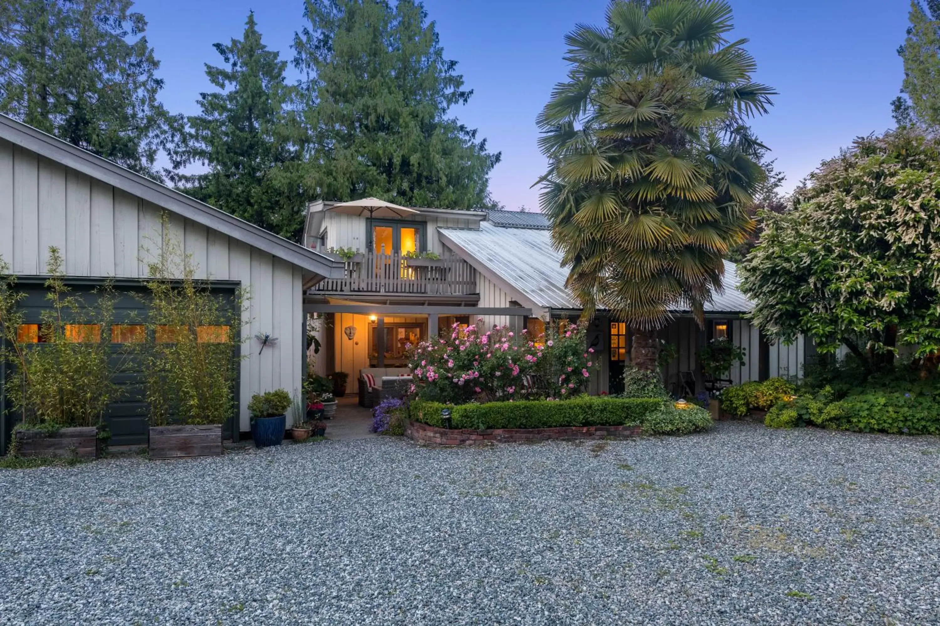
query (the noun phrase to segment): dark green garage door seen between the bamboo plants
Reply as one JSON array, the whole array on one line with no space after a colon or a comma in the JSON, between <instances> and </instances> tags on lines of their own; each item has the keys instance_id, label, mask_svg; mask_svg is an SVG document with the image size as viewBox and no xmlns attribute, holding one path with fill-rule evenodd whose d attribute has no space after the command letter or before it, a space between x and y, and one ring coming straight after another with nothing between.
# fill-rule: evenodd
<instances>
[{"instance_id":1,"label":"dark green garage door seen between the bamboo plants","mask_svg":"<svg viewBox=\"0 0 940 626\"><path fill-rule=\"evenodd\" d=\"M94 307L98 298L95 289L100 285L101 282L70 281L70 295L78 296L86 306ZM30 332L39 333L42 312L50 310L50 302L46 298L47 291L39 280L22 279L18 287L25 294L25 298L21 301L21 308L24 312L26 328L23 329L21 336L26 337ZM231 295L235 288L237 288L235 284L219 283L213 286L213 291L224 297ZM110 445L146 446L149 423L144 386L145 373L142 369L143 359L140 355L128 354L123 346L141 341L146 336L147 331L142 322L147 319L148 313L147 291L143 285L136 282L119 283L116 285L116 291L118 298L115 301L112 327L85 328L86 325L82 325L83 328L77 328L77 331L89 333L88 337L92 339L100 336L101 333L108 333L112 341L111 365L116 371L114 381L118 385L119 393L118 399L108 405L104 415L104 421L111 432ZM9 372L9 364L5 367ZM0 376L0 421L3 422L0 424L0 454L5 453L12 427L21 419L21 416L10 410L3 411L4 408L9 408L9 402L5 401L2 388L6 378L6 375ZM237 387L236 384L236 389ZM233 420L235 417L233 416ZM226 436L232 433L232 423L225 425Z\"/></svg>"}]
</instances>

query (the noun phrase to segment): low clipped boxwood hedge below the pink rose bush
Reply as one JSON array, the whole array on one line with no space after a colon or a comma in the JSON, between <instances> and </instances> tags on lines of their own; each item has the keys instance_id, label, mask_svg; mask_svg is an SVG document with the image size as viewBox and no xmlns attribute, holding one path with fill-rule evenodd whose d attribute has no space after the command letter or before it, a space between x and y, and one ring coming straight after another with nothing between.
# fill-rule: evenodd
<instances>
[{"instance_id":1,"label":"low clipped boxwood hedge below the pink rose bush","mask_svg":"<svg viewBox=\"0 0 940 626\"><path fill-rule=\"evenodd\" d=\"M454 428L556 428L560 426L638 426L659 409L658 398L609 398L582 396L572 400L523 400L483 405L443 405L415 400L412 420L441 427L441 410L451 411Z\"/></svg>"}]
</instances>

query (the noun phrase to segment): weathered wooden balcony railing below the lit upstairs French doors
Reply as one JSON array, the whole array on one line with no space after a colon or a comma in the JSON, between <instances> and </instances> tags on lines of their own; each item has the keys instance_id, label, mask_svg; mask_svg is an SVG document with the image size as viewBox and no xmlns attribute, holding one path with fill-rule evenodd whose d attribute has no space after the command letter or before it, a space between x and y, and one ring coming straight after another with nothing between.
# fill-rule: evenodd
<instances>
[{"instance_id":1,"label":"weathered wooden balcony railing below the lit upstairs French doors","mask_svg":"<svg viewBox=\"0 0 940 626\"><path fill-rule=\"evenodd\" d=\"M313 290L330 294L422 294L467 296L477 293L477 272L458 256L411 259L400 252L356 254L345 276L327 279Z\"/></svg>"}]
</instances>

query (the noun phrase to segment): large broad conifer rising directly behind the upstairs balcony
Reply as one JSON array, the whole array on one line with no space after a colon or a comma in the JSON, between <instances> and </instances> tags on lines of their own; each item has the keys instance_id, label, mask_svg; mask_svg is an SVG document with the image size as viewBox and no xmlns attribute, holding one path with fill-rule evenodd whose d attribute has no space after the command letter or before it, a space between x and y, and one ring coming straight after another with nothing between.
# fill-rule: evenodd
<instances>
[{"instance_id":1,"label":"large broad conifer rising directly behind the upstairs balcony","mask_svg":"<svg viewBox=\"0 0 940 626\"><path fill-rule=\"evenodd\" d=\"M466 103L434 24L413 0L307 0L294 38L305 75L308 169L329 200L378 196L414 206L494 206L499 153L448 116Z\"/></svg>"}]
</instances>

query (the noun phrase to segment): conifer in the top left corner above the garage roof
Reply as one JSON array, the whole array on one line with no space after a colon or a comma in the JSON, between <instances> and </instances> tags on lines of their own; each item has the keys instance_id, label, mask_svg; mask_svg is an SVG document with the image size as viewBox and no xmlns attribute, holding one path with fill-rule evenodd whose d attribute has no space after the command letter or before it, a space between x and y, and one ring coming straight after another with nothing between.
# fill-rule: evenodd
<instances>
[{"instance_id":1,"label":"conifer in the top left corner above the garage roof","mask_svg":"<svg viewBox=\"0 0 940 626\"><path fill-rule=\"evenodd\" d=\"M135 172L153 170L173 118L131 0L8 0L0 112Z\"/></svg>"}]
</instances>

